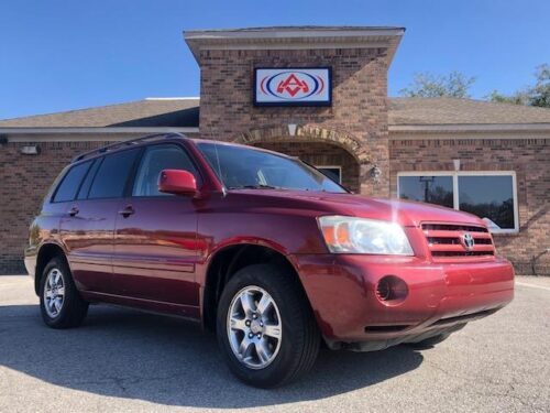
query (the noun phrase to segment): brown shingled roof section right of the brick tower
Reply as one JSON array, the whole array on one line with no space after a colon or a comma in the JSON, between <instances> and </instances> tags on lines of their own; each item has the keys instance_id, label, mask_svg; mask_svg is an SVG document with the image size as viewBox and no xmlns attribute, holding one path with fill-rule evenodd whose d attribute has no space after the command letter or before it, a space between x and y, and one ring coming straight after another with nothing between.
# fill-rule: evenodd
<instances>
[{"instance_id":1,"label":"brown shingled roof section right of the brick tower","mask_svg":"<svg viewBox=\"0 0 550 413\"><path fill-rule=\"evenodd\" d=\"M391 98L388 123L526 124L550 123L550 109L458 98Z\"/></svg>"}]
</instances>

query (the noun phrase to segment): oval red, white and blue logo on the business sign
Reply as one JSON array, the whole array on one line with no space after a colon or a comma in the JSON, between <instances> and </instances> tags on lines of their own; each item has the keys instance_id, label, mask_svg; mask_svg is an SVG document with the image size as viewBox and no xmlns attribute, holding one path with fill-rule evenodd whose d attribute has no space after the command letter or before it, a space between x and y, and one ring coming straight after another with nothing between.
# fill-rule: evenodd
<instances>
[{"instance_id":1,"label":"oval red, white and blue logo on the business sign","mask_svg":"<svg viewBox=\"0 0 550 413\"><path fill-rule=\"evenodd\" d=\"M272 76L264 76L260 80L260 89L265 95L279 99L304 99L312 95L320 95L324 90L324 80L321 76L305 72L283 72Z\"/></svg>"}]
</instances>

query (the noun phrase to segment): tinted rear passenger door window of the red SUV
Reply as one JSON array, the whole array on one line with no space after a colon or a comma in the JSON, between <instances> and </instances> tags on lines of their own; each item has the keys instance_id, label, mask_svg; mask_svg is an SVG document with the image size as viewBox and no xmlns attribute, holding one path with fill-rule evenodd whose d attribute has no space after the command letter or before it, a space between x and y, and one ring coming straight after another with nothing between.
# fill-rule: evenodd
<instances>
[{"instance_id":1,"label":"tinted rear passenger door window of the red SUV","mask_svg":"<svg viewBox=\"0 0 550 413\"><path fill-rule=\"evenodd\" d=\"M139 152L136 148L107 155L94 178L88 199L122 197Z\"/></svg>"}]
</instances>

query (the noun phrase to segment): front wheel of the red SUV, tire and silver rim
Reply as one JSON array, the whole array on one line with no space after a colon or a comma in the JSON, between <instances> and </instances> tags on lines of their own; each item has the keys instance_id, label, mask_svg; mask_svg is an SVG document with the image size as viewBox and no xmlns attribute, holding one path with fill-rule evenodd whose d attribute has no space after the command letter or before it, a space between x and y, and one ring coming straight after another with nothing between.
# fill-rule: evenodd
<instances>
[{"instance_id":1,"label":"front wheel of the red SUV, tire and silver rim","mask_svg":"<svg viewBox=\"0 0 550 413\"><path fill-rule=\"evenodd\" d=\"M292 275L255 264L238 271L223 289L218 344L230 370L246 384L286 384L309 371L317 359L317 323Z\"/></svg>"}]
</instances>

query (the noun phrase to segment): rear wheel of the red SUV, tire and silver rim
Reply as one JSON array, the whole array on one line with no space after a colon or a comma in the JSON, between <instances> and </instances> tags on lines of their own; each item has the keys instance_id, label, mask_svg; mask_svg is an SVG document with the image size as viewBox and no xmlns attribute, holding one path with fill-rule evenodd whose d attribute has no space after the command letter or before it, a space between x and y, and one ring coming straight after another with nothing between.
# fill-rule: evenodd
<instances>
[{"instance_id":1,"label":"rear wheel of the red SUV, tire and silver rim","mask_svg":"<svg viewBox=\"0 0 550 413\"><path fill-rule=\"evenodd\" d=\"M77 327L88 313L88 303L78 293L63 257L54 257L46 264L38 292L42 318L52 328Z\"/></svg>"}]
</instances>

